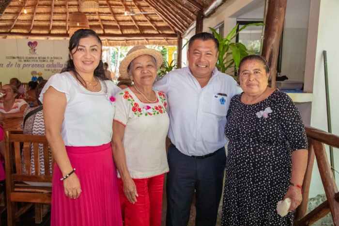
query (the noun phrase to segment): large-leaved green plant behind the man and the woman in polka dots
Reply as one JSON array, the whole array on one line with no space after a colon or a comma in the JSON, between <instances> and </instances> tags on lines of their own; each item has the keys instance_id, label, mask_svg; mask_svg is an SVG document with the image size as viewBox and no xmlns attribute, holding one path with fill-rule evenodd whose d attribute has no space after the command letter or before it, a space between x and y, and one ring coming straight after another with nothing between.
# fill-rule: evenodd
<instances>
[{"instance_id":1,"label":"large-leaved green plant behind the man and the woman in polka dots","mask_svg":"<svg viewBox=\"0 0 339 226\"><path fill-rule=\"evenodd\" d=\"M248 26L263 26L263 23L251 23L247 24L240 29L238 29L239 24L237 24L231 32L227 34L225 38L223 38L218 32L216 32L215 29L210 28L212 31L214 37L219 42L219 55L218 60L216 63L216 68L218 68L219 71L225 73L229 68L234 68L235 70L238 70L239 63L241 59L243 59L248 54L251 54L252 52L249 51L246 46L244 46L240 42L234 42L234 38L236 35L247 28ZM235 75L233 75L233 78L235 78Z\"/></svg>"}]
</instances>

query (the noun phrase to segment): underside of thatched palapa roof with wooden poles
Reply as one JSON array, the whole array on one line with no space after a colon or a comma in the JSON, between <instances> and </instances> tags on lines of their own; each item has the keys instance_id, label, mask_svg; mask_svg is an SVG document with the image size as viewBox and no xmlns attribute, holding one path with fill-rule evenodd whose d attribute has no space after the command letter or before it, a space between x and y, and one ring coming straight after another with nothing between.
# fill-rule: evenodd
<instances>
[{"instance_id":1,"label":"underside of thatched palapa roof with wooden poles","mask_svg":"<svg viewBox=\"0 0 339 226\"><path fill-rule=\"evenodd\" d=\"M214 0L99 0L97 13L84 12L105 45L177 45L199 11ZM69 16L78 0L0 0L0 37L69 37Z\"/></svg>"}]
</instances>

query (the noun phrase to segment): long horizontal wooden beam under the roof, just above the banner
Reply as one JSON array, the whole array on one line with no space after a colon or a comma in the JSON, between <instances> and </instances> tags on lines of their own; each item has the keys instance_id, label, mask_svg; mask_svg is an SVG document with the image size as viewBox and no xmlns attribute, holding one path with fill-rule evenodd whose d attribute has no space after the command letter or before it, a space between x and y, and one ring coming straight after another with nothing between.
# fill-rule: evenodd
<instances>
[{"instance_id":1,"label":"long horizontal wooden beam under the roof, just above the banner","mask_svg":"<svg viewBox=\"0 0 339 226\"><path fill-rule=\"evenodd\" d=\"M68 34L50 34L50 33L22 33L22 32L0 32L0 36L22 36L22 37L45 37L45 38L64 38L69 37ZM139 39L152 39L152 38L176 38L177 34L161 33L161 34L99 34L100 38L139 38Z\"/></svg>"}]
</instances>

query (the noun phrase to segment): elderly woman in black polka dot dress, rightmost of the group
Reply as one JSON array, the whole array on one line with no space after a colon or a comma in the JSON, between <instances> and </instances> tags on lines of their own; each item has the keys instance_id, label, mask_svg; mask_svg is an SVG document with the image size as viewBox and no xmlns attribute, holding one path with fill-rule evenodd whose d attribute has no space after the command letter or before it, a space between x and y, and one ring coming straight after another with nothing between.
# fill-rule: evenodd
<instances>
[{"instance_id":1,"label":"elderly woman in black polka dot dress, rightmost of the group","mask_svg":"<svg viewBox=\"0 0 339 226\"><path fill-rule=\"evenodd\" d=\"M302 201L307 137L290 97L268 87L269 67L259 55L239 65L243 93L232 97L222 226L292 226ZM289 213L277 202L291 199Z\"/></svg>"}]
</instances>

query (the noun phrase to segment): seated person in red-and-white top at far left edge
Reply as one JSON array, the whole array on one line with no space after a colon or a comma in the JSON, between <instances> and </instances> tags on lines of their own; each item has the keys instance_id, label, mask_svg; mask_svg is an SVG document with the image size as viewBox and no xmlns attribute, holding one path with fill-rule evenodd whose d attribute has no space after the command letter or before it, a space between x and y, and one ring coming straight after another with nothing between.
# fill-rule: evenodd
<instances>
[{"instance_id":1,"label":"seated person in red-and-white top at far left edge","mask_svg":"<svg viewBox=\"0 0 339 226\"><path fill-rule=\"evenodd\" d=\"M0 114L6 118L21 118L27 107L27 102L23 99L16 99L18 90L14 85L6 84L1 88L4 94L0 98Z\"/></svg>"}]
</instances>

